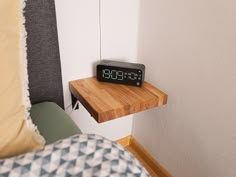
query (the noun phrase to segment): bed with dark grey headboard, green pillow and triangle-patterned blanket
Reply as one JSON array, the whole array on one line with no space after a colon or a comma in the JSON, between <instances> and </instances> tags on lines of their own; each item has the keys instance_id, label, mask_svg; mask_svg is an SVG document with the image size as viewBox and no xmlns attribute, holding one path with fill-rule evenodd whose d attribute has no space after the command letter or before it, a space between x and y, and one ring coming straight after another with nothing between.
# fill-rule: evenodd
<instances>
[{"instance_id":1,"label":"bed with dark grey headboard, green pillow and triangle-patterned blanket","mask_svg":"<svg viewBox=\"0 0 236 177\"><path fill-rule=\"evenodd\" d=\"M102 136L83 134L63 110L54 1L27 0L24 15L30 114L46 145L34 152L0 159L0 177L149 176L129 151Z\"/></svg>"}]
</instances>

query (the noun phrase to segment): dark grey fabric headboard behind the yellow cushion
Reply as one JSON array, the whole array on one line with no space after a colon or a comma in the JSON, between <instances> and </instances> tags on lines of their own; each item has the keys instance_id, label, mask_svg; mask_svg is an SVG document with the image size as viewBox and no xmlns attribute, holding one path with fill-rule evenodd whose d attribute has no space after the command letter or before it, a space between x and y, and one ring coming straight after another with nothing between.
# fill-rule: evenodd
<instances>
[{"instance_id":1,"label":"dark grey fabric headboard behind the yellow cushion","mask_svg":"<svg viewBox=\"0 0 236 177\"><path fill-rule=\"evenodd\" d=\"M53 101L64 108L54 0L27 0L24 15L31 103Z\"/></svg>"}]
</instances>

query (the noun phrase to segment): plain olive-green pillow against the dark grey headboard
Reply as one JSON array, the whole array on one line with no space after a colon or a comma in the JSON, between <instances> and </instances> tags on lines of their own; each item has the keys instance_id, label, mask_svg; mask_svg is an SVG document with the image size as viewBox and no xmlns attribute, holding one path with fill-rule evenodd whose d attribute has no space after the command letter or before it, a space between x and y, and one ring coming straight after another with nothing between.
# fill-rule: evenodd
<instances>
[{"instance_id":1,"label":"plain olive-green pillow against the dark grey headboard","mask_svg":"<svg viewBox=\"0 0 236 177\"><path fill-rule=\"evenodd\" d=\"M53 102L33 105L30 114L33 123L45 138L46 144L81 133L70 116Z\"/></svg>"}]
</instances>

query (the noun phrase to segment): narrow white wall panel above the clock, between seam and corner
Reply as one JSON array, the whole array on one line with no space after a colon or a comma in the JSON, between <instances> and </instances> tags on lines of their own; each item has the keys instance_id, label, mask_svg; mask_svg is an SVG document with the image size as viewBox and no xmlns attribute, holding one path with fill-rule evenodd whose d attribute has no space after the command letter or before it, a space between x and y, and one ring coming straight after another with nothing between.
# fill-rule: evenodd
<instances>
[{"instance_id":1,"label":"narrow white wall panel above the clock, between seam and corner","mask_svg":"<svg viewBox=\"0 0 236 177\"><path fill-rule=\"evenodd\" d=\"M102 57L136 62L139 1L101 0Z\"/></svg>"}]
</instances>

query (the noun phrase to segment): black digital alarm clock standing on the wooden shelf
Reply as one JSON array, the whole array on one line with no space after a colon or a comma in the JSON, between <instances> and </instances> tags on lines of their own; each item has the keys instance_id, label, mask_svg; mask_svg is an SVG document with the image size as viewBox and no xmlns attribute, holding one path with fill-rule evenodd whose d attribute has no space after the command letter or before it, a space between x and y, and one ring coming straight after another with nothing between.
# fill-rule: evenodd
<instances>
[{"instance_id":1,"label":"black digital alarm clock standing on the wooden shelf","mask_svg":"<svg viewBox=\"0 0 236 177\"><path fill-rule=\"evenodd\" d=\"M97 80L141 87L144 81L145 66L112 60L101 60L97 64Z\"/></svg>"}]
</instances>

